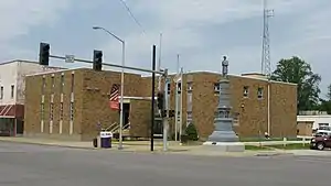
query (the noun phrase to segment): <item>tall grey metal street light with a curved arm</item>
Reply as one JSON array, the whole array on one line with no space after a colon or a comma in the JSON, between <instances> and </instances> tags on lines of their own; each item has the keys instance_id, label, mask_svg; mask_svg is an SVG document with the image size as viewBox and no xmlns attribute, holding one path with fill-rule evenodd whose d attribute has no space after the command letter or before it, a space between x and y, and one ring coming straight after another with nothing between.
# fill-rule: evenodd
<instances>
[{"instance_id":1,"label":"tall grey metal street light with a curved arm","mask_svg":"<svg viewBox=\"0 0 331 186\"><path fill-rule=\"evenodd\" d=\"M94 30L103 30L105 31L107 34L111 35L113 37L115 37L116 40L118 40L121 43L121 66L125 66L125 56L126 56L126 44L125 41L119 39L118 36L116 36L114 33L111 33L110 31L108 31L105 28L100 28L100 26L93 26ZM124 68L121 68L121 74L120 74L120 116L119 116L119 145L118 149L121 150L122 149L122 102L124 102Z\"/></svg>"}]
</instances>

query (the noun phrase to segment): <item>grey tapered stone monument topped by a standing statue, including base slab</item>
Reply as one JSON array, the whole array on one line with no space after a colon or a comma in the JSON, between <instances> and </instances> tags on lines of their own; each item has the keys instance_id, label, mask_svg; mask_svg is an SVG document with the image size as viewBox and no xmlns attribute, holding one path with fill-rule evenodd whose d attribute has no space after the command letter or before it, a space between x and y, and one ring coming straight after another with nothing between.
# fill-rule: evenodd
<instances>
[{"instance_id":1,"label":"grey tapered stone monument topped by a standing statue, including base slab","mask_svg":"<svg viewBox=\"0 0 331 186\"><path fill-rule=\"evenodd\" d=\"M226 56L224 56L222 62L222 79L220 80L221 94L214 119L215 129L204 145L214 146L215 150L224 152L243 152L245 151L245 145L239 142L238 136L233 130L229 80L227 77L227 72L228 61L226 59Z\"/></svg>"}]
</instances>

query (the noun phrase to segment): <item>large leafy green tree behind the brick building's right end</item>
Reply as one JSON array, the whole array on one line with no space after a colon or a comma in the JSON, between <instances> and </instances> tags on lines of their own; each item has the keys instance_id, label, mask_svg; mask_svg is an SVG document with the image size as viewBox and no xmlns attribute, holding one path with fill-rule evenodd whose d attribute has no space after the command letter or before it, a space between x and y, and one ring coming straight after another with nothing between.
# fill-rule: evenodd
<instances>
[{"instance_id":1,"label":"large leafy green tree behind the brick building's right end","mask_svg":"<svg viewBox=\"0 0 331 186\"><path fill-rule=\"evenodd\" d=\"M297 56L280 59L271 79L298 85L298 111L313 110L318 107L321 76L312 73L310 64L303 59Z\"/></svg>"}]
</instances>

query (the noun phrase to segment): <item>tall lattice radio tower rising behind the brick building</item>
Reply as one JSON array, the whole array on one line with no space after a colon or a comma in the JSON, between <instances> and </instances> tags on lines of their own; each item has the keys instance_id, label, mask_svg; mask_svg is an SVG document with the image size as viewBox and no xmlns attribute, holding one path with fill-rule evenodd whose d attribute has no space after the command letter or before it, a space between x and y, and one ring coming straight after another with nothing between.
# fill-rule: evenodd
<instances>
[{"instance_id":1,"label":"tall lattice radio tower rising behind the brick building","mask_svg":"<svg viewBox=\"0 0 331 186\"><path fill-rule=\"evenodd\" d=\"M274 17L274 10L267 9L267 0L264 0L264 33L263 33L263 54L261 74L268 77L271 74L270 61L270 39L269 39L269 18Z\"/></svg>"}]
</instances>

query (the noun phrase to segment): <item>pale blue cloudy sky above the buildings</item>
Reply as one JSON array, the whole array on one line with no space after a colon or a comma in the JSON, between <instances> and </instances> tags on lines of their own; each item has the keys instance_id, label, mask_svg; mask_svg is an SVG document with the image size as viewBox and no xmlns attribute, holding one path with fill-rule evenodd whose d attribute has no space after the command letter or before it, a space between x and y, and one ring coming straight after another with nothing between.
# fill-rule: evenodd
<instances>
[{"instance_id":1,"label":"pale blue cloudy sky above the buildings","mask_svg":"<svg viewBox=\"0 0 331 186\"><path fill-rule=\"evenodd\" d=\"M28 3L29 2L29 3ZM38 61L39 43L51 44L52 55L72 54L92 59L104 52L105 63L151 68L151 48L161 44L161 66L177 72L221 70L222 56L229 73L260 73L263 0L126 0L139 24L120 0L1 0L0 62ZM331 83L331 1L269 0L271 69L280 58L299 56L322 76L322 94ZM328 24L329 22L329 24ZM52 66L90 67L52 59ZM113 68L108 68L113 69ZM115 69L115 68L114 68ZM323 95L322 95L323 96Z\"/></svg>"}]
</instances>

